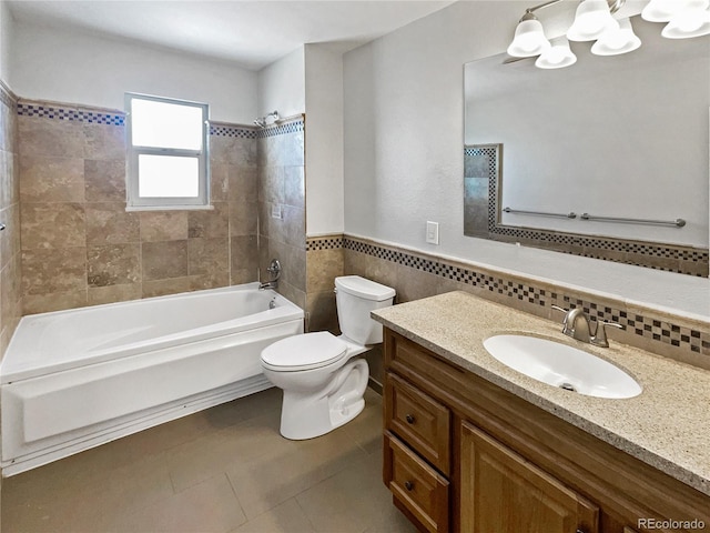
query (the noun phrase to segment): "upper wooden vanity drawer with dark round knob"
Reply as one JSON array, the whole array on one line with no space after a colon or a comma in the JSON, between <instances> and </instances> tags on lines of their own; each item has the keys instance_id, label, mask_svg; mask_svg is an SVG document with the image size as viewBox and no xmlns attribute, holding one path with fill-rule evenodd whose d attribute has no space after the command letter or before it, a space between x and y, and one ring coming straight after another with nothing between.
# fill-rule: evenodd
<instances>
[{"instance_id":1,"label":"upper wooden vanity drawer with dark round knob","mask_svg":"<svg viewBox=\"0 0 710 533\"><path fill-rule=\"evenodd\" d=\"M445 475L450 467L450 411L392 372L385 380L385 428Z\"/></svg>"}]
</instances>

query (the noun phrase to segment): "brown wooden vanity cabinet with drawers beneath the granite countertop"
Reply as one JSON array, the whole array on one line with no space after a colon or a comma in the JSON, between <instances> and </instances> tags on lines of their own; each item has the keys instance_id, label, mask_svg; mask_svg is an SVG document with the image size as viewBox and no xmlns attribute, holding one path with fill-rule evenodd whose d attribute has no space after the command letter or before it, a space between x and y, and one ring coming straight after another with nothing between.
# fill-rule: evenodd
<instances>
[{"instance_id":1,"label":"brown wooden vanity cabinet with drawers beneath the granite countertop","mask_svg":"<svg viewBox=\"0 0 710 533\"><path fill-rule=\"evenodd\" d=\"M710 533L710 496L388 329L384 433L384 482L420 531Z\"/></svg>"}]
</instances>

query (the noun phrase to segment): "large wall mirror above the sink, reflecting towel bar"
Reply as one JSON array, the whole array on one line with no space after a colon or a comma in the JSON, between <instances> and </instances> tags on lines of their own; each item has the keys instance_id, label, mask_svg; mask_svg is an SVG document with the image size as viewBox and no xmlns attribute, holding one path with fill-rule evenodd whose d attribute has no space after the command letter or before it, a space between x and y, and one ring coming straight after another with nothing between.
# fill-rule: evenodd
<instances>
[{"instance_id":1,"label":"large wall mirror above the sink, reflecting towel bar","mask_svg":"<svg viewBox=\"0 0 710 533\"><path fill-rule=\"evenodd\" d=\"M708 275L710 37L465 66L464 233Z\"/></svg>"}]
</instances>

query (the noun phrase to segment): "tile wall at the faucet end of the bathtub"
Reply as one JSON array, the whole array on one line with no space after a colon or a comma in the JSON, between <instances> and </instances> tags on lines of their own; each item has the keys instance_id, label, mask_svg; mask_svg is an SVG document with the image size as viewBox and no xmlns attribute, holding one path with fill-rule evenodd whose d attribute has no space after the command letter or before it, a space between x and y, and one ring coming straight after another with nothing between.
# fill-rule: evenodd
<instances>
[{"instance_id":1,"label":"tile wall at the faucet end of the bathtub","mask_svg":"<svg viewBox=\"0 0 710 533\"><path fill-rule=\"evenodd\" d=\"M258 266L282 265L278 292L306 308L305 120L258 131ZM256 221L256 217L254 218Z\"/></svg>"}]
</instances>

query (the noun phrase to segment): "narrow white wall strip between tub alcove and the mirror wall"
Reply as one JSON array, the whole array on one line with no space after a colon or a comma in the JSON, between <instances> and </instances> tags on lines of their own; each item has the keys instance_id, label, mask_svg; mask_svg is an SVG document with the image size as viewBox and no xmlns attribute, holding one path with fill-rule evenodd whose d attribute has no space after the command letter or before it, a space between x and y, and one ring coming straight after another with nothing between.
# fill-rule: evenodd
<instances>
[{"instance_id":1,"label":"narrow white wall strip between tub alcove and the mirror wall","mask_svg":"<svg viewBox=\"0 0 710 533\"><path fill-rule=\"evenodd\" d=\"M343 56L306 44L306 235L343 233Z\"/></svg>"}]
</instances>

